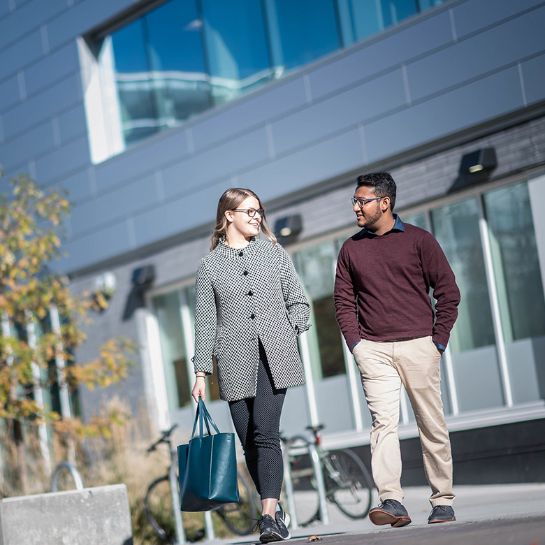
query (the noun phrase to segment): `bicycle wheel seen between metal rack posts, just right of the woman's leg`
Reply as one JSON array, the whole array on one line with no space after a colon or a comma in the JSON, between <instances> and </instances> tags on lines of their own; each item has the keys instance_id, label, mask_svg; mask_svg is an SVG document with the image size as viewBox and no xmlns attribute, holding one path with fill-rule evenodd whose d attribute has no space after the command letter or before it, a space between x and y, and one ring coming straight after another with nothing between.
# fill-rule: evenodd
<instances>
[{"instance_id":1,"label":"bicycle wheel seen between metal rack posts, just right of the woman's leg","mask_svg":"<svg viewBox=\"0 0 545 545\"><path fill-rule=\"evenodd\" d=\"M290 474L297 523L307 526L319 519L316 474L310 456L290 456Z\"/></svg>"}]
</instances>

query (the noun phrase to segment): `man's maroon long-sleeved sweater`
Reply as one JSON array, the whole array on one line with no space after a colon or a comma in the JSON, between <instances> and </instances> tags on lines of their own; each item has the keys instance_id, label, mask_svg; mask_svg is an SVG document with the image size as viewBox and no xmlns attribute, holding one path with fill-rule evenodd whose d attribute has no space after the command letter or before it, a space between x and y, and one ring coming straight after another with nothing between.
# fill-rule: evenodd
<instances>
[{"instance_id":1,"label":"man's maroon long-sleeved sweater","mask_svg":"<svg viewBox=\"0 0 545 545\"><path fill-rule=\"evenodd\" d=\"M437 300L435 324L430 288ZM433 235L396 217L384 235L363 229L344 242L333 298L349 347L362 338L391 341L426 335L446 347L460 291Z\"/></svg>"}]
</instances>

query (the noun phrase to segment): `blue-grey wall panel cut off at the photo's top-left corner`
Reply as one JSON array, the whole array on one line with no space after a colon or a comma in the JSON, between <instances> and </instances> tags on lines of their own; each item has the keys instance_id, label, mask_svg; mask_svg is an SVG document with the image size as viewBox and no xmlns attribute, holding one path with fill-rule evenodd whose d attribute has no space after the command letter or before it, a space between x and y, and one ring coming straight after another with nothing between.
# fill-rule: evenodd
<instances>
[{"instance_id":1,"label":"blue-grey wall panel cut off at the photo's top-left corner","mask_svg":"<svg viewBox=\"0 0 545 545\"><path fill-rule=\"evenodd\" d=\"M66 0L31 0L0 21L0 50L68 9Z\"/></svg>"}]
</instances>

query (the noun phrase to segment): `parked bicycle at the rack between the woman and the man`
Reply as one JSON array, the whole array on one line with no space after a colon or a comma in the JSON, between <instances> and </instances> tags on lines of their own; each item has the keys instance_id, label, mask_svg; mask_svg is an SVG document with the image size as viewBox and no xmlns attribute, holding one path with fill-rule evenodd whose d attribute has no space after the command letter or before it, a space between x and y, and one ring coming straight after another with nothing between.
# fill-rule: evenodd
<instances>
[{"instance_id":1,"label":"parked bicycle at the rack between the woman and the man","mask_svg":"<svg viewBox=\"0 0 545 545\"><path fill-rule=\"evenodd\" d=\"M349 449L324 449L320 436L324 426L307 426L306 429L312 431L314 441L302 435L289 439L281 437L288 457L298 525L307 526L321 520L317 477L310 457L311 445L317 451L319 466L324 475L326 500L336 504L349 518L365 518L371 508L374 488L367 467Z\"/></svg>"}]
</instances>

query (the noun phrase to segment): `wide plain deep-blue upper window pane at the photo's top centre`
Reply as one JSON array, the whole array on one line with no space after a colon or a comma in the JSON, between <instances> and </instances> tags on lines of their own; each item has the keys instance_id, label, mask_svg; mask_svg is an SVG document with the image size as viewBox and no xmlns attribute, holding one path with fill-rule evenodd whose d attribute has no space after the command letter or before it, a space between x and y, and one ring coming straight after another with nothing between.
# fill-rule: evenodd
<instances>
[{"instance_id":1,"label":"wide plain deep-blue upper window pane at the photo's top centre","mask_svg":"<svg viewBox=\"0 0 545 545\"><path fill-rule=\"evenodd\" d=\"M303 66L341 47L333 0L267 0L275 66Z\"/></svg>"}]
</instances>

